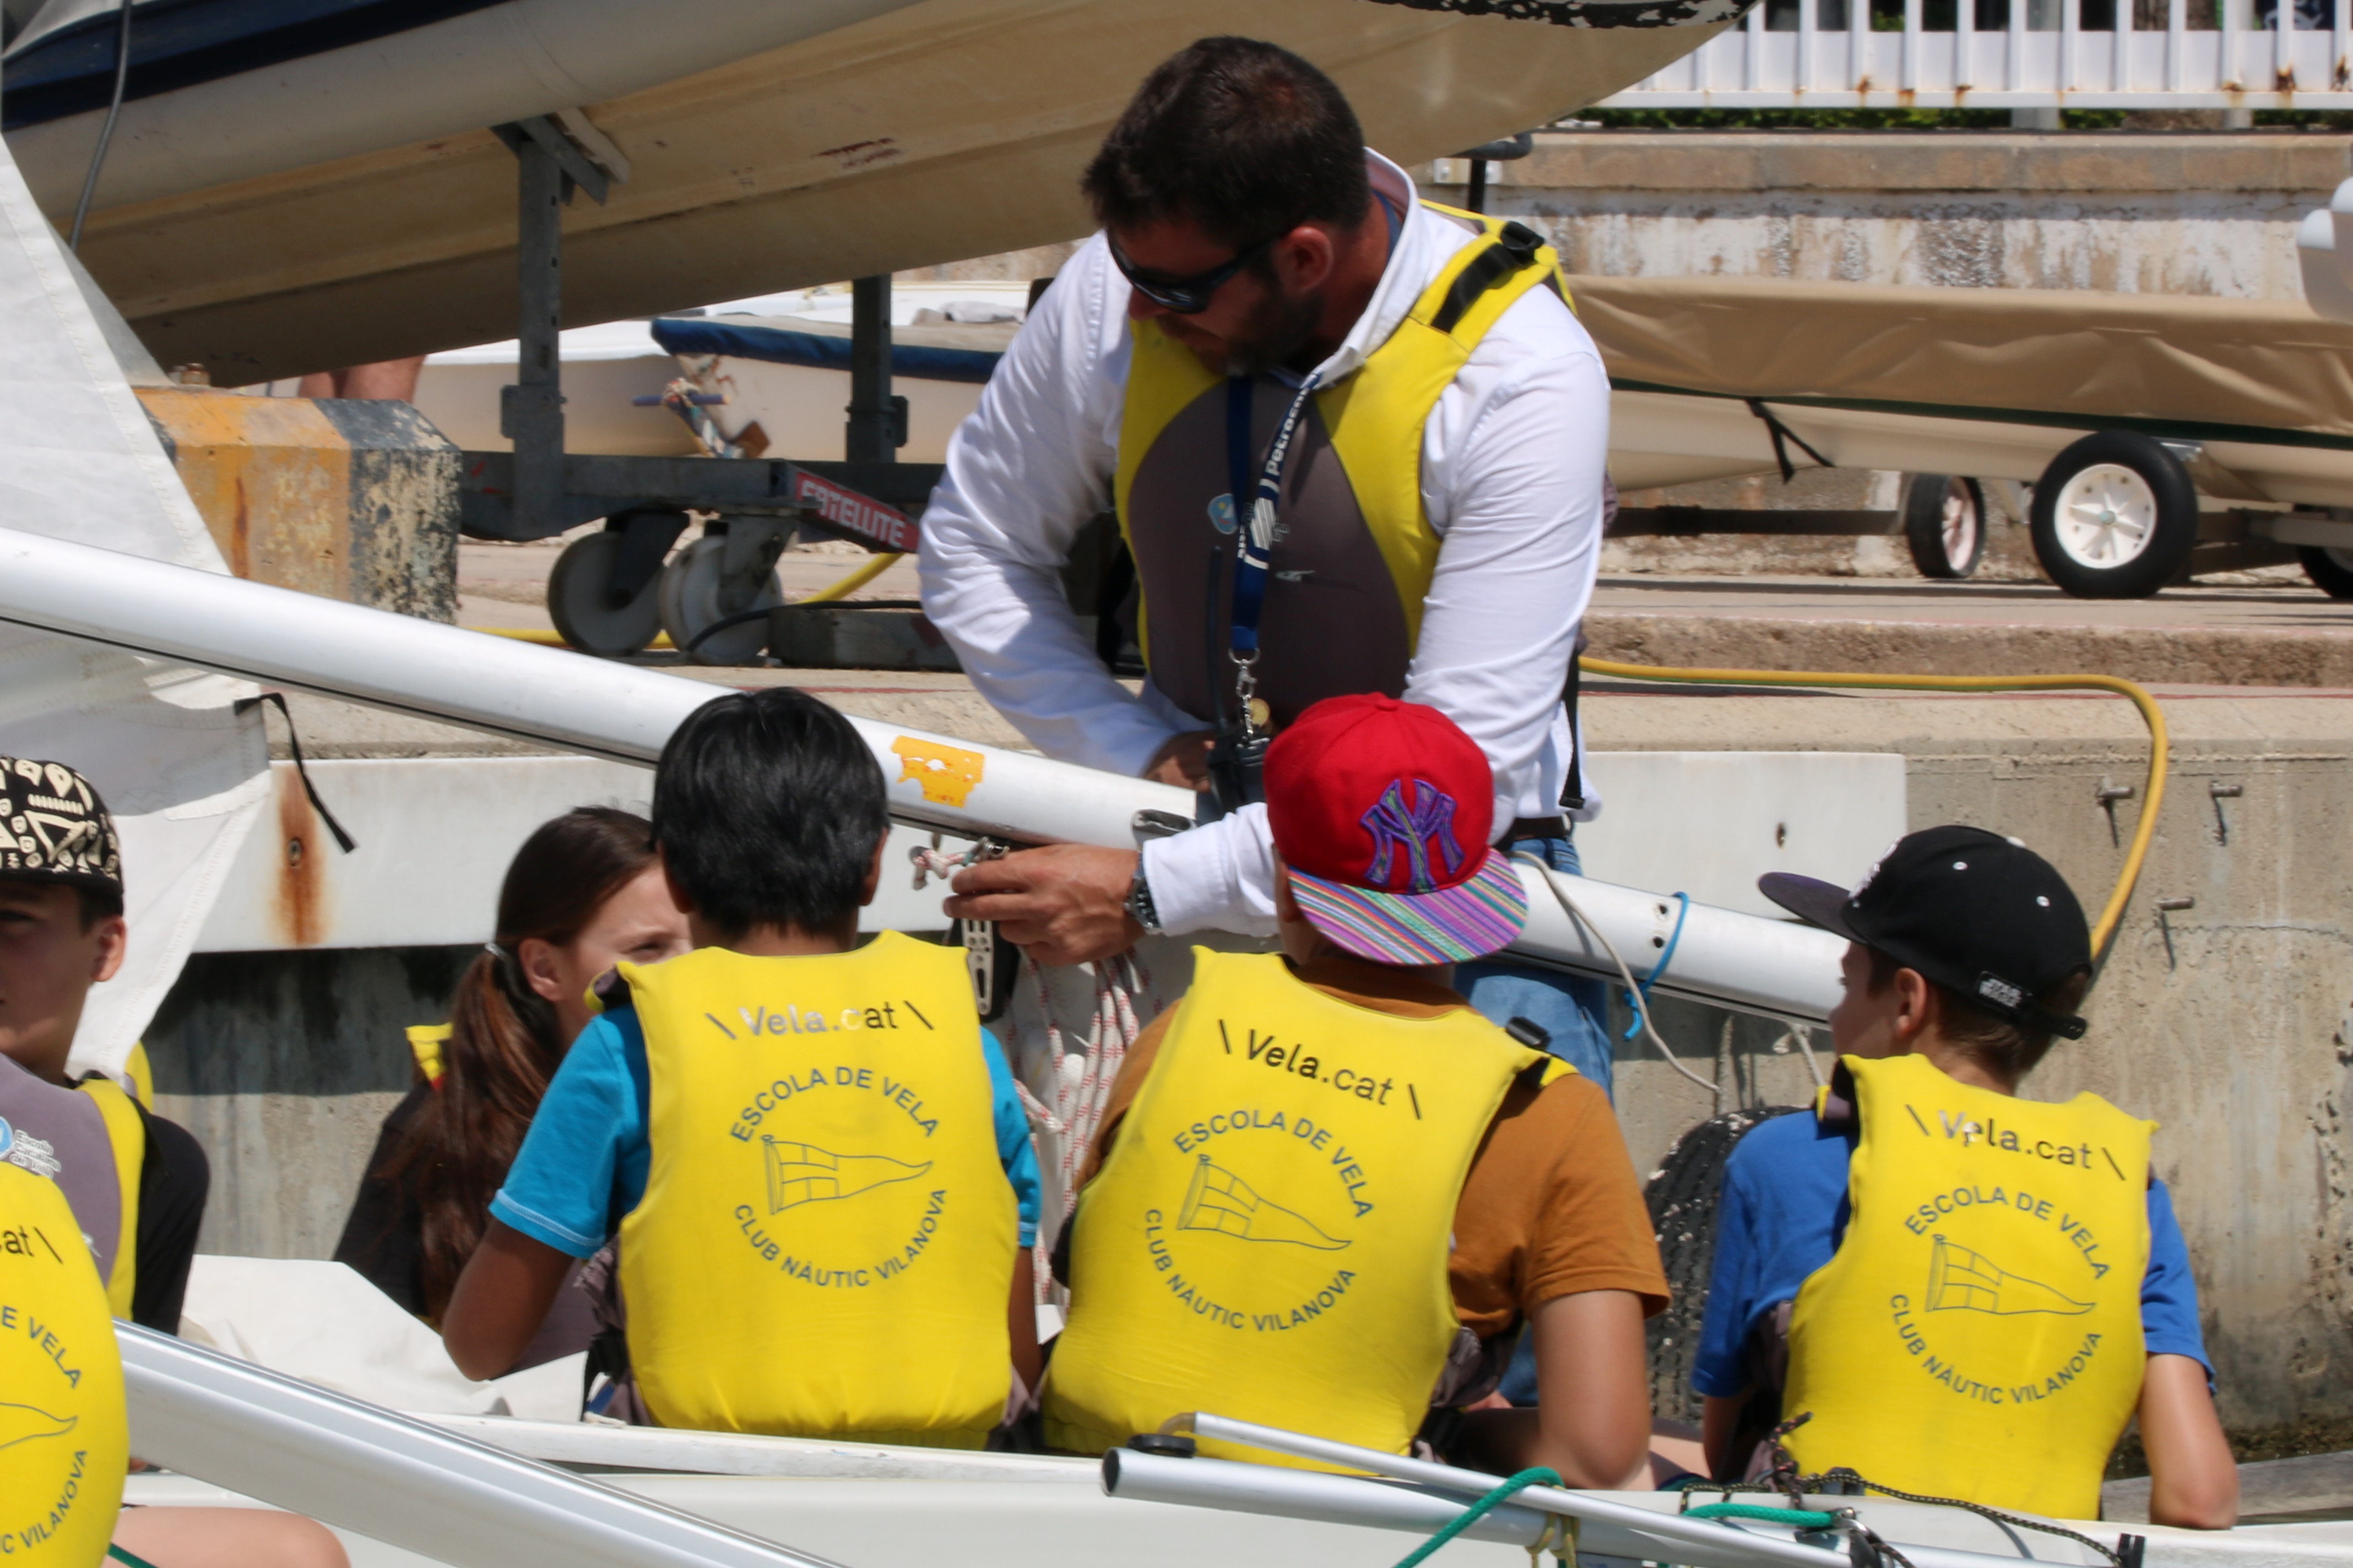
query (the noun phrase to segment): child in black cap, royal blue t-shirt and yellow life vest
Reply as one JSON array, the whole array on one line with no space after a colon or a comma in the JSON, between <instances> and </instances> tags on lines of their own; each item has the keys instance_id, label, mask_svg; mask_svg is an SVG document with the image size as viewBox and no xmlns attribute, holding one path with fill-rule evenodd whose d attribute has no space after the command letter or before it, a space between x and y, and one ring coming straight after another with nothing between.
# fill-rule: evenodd
<instances>
[{"instance_id":1,"label":"child in black cap, royal blue t-shirt and yellow life vest","mask_svg":"<svg viewBox=\"0 0 2353 1568\"><path fill-rule=\"evenodd\" d=\"M1847 994L1814 1114L1725 1166L1692 1371L1715 1479L1753 1474L1781 1425L1805 1474L2094 1519L2139 1415L2151 1519L2228 1528L2238 1469L2153 1124L2017 1098L2085 1032L2073 891L1977 827L1908 835L1852 893L1758 886L1847 938Z\"/></svg>"}]
</instances>

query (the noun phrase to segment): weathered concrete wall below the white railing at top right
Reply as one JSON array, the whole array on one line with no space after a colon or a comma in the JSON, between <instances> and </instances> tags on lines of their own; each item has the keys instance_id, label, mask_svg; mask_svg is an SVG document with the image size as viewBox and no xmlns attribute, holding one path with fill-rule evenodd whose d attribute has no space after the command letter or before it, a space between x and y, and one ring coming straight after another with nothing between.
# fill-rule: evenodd
<instances>
[{"instance_id":1,"label":"weathered concrete wall below the white railing at top right","mask_svg":"<svg viewBox=\"0 0 2353 1568\"><path fill-rule=\"evenodd\" d=\"M1572 273L2301 299L2348 167L2315 132L1546 132L1489 174Z\"/></svg>"}]
</instances>

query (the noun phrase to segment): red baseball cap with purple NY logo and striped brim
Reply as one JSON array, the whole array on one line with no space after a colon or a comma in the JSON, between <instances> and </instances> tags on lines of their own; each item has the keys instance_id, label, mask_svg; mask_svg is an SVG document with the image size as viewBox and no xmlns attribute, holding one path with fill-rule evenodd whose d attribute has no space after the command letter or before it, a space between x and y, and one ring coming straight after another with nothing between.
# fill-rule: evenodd
<instances>
[{"instance_id":1,"label":"red baseball cap with purple NY logo and striped brim","mask_svg":"<svg viewBox=\"0 0 2353 1568\"><path fill-rule=\"evenodd\" d=\"M1377 964L1508 947L1527 893L1489 846L1494 773L1454 719L1393 696L1332 696L1266 748L1266 823L1318 931Z\"/></svg>"}]
</instances>

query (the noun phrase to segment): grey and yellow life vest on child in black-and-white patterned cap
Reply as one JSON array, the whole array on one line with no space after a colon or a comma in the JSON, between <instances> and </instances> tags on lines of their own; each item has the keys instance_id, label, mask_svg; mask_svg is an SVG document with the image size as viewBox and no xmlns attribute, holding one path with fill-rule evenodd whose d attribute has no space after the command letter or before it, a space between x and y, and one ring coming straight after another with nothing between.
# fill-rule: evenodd
<instances>
[{"instance_id":1,"label":"grey and yellow life vest on child in black-and-white patterned cap","mask_svg":"<svg viewBox=\"0 0 2353 1568\"><path fill-rule=\"evenodd\" d=\"M45 1175L66 1194L106 1281L115 1316L132 1314L139 1284L139 1173L146 1124L111 1079L75 1086L38 1079L0 1058L0 1164Z\"/></svg>"}]
</instances>

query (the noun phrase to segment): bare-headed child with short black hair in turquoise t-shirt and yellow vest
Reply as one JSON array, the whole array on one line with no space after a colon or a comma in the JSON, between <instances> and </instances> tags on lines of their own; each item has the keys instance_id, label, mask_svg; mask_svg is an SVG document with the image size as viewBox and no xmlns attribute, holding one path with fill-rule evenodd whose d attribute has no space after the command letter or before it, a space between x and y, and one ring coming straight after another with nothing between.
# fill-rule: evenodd
<instances>
[{"instance_id":1,"label":"bare-headed child with short black hair in turquoise t-shirt and yellow vest","mask_svg":"<svg viewBox=\"0 0 2353 1568\"><path fill-rule=\"evenodd\" d=\"M504 1373L619 1234L656 1425L981 1446L1038 1382L1038 1164L960 954L859 947L880 766L802 691L732 693L671 736L652 818L694 952L598 983L449 1356Z\"/></svg>"}]
</instances>

